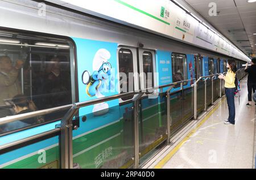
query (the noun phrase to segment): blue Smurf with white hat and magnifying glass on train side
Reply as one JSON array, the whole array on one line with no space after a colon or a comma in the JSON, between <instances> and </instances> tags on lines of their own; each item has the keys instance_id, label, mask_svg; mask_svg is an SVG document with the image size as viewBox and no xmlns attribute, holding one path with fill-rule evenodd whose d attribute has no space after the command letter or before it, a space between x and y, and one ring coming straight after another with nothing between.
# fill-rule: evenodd
<instances>
[{"instance_id":1,"label":"blue Smurf with white hat and magnifying glass on train side","mask_svg":"<svg viewBox=\"0 0 256 180\"><path fill-rule=\"evenodd\" d=\"M82 82L86 84L86 93L89 97L97 98L105 97L102 95L110 89L114 89L114 76L111 64L108 62L111 55L106 49L99 49L93 58L93 74L84 71L82 74ZM102 115L108 113L109 105L106 102L96 104L93 107L94 115Z\"/></svg>"}]
</instances>

